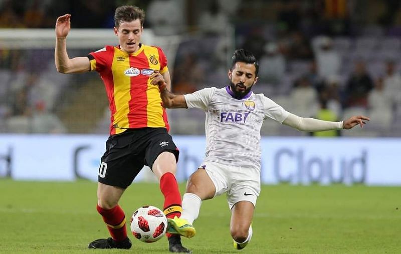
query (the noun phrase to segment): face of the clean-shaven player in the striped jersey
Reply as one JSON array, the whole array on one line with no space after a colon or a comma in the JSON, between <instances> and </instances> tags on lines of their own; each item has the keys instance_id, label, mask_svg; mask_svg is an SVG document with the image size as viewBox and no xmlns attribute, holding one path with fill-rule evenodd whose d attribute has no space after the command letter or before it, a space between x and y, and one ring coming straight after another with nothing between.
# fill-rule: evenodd
<instances>
[{"instance_id":1,"label":"face of the clean-shaven player in the striped jersey","mask_svg":"<svg viewBox=\"0 0 401 254\"><path fill-rule=\"evenodd\" d=\"M126 53L135 53L139 50L142 32L143 27L139 19L121 22L118 28L114 28L114 34L118 37L121 50Z\"/></svg>"}]
</instances>

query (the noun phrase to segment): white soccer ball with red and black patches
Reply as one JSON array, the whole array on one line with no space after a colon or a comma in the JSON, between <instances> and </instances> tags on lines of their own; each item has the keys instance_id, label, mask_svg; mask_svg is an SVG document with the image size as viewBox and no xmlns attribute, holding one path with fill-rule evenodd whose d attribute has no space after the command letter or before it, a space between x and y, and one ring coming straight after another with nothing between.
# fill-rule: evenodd
<instances>
[{"instance_id":1,"label":"white soccer ball with red and black patches","mask_svg":"<svg viewBox=\"0 0 401 254\"><path fill-rule=\"evenodd\" d=\"M131 231L135 238L144 242L155 242L166 233L167 218L157 207L139 207L131 217Z\"/></svg>"}]
</instances>

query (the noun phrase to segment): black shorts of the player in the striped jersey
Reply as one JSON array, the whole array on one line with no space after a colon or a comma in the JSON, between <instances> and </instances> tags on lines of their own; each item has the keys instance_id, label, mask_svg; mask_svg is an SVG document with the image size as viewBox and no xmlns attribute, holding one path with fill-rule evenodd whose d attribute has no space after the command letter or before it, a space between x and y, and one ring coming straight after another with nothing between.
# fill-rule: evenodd
<instances>
[{"instance_id":1,"label":"black shorts of the player in the striped jersey","mask_svg":"<svg viewBox=\"0 0 401 254\"><path fill-rule=\"evenodd\" d=\"M128 129L110 136L101 158L98 181L127 188L144 165L152 169L157 156L169 151L178 161L178 148L165 128Z\"/></svg>"}]
</instances>

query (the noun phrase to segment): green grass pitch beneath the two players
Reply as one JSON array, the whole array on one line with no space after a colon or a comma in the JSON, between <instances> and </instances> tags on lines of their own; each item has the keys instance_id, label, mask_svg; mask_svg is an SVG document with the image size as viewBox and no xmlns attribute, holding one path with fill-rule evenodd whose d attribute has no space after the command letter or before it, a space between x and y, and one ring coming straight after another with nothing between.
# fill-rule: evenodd
<instances>
[{"instance_id":1,"label":"green grass pitch beneath the two players","mask_svg":"<svg viewBox=\"0 0 401 254\"><path fill-rule=\"evenodd\" d=\"M108 236L95 208L96 186L0 179L0 252L169 253L165 237L143 243L130 233L130 250L87 249L93 239ZM184 184L180 188L183 193ZM129 221L137 207L162 202L157 184L134 183L120 205ZM229 223L225 196L204 201L197 234L183 245L194 253L401 253L401 188L262 186L254 235L241 251L233 248Z\"/></svg>"}]
</instances>

